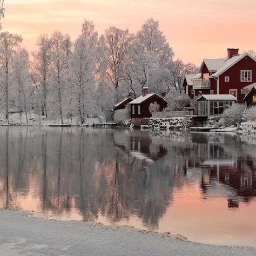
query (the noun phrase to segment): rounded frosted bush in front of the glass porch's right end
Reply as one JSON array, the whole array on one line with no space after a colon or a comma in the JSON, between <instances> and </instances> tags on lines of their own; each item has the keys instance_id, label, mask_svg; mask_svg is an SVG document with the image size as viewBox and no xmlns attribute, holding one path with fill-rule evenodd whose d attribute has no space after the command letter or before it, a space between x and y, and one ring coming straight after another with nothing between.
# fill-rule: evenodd
<instances>
[{"instance_id":1,"label":"rounded frosted bush in front of the glass porch's right end","mask_svg":"<svg viewBox=\"0 0 256 256\"><path fill-rule=\"evenodd\" d=\"M246 110L245 104L233 104L229 109L226 109L221 115L221 122L225 126L237 125L242 122L243 114Z\"/></svg>"}]
</instances>

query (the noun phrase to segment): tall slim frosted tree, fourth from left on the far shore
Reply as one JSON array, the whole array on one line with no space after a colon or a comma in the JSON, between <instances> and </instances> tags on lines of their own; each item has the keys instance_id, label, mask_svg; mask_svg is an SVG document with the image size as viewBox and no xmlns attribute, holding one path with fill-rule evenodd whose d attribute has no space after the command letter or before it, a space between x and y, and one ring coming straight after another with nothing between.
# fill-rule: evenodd
<instances>
[{"instance_id":1,"label":"tall slim frosted tree, fourth from left on the far shore","mask_svg":"<svg viewBox=\"0 0 256 256\"><path fill-rule=\"evenodd\" d=\"M65 37L59 31L51 36L51 61L50 61L50 92L52 117L60 117L64 124L65 99L67 95L68 55L66 51Z\"/></svg>"}]
</instances>

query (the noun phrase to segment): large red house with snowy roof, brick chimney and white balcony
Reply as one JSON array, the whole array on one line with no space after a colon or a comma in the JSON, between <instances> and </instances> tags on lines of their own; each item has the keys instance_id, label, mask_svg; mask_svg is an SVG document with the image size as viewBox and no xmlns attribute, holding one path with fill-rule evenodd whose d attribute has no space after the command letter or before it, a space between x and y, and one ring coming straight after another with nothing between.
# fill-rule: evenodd
<instances>
[{"instance_id":1,"label":"large red house with snowy roof, brick chimney and white balcony","mask_svg":"<svg viewBox=\"0 0 256 256\"><path fill-rule=\"evenodd\" d=\"M199 73L191 78L194 90L191 98L200 94L231 94L242 103L245 87L256 82L256 60L247 53L239 54L239 49L227 49L227 58L204 59ZM189 90L187 95L190 95Z\"/></svg>"}]
</instances>

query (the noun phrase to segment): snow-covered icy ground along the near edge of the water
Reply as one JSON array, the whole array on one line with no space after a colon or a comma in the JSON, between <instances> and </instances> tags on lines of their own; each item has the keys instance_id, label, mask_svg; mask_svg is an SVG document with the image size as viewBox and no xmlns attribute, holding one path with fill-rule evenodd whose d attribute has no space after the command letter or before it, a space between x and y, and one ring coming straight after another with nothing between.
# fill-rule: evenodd
<instances>
[{"instance_id":1,"label":"snow-covered icy ground along the near edge of the water","mask_svg":"<svg viewBox=\"0 0 256 256\"><path fill-rule=\"evenodd\" d=\"M0 255L255 255L255 248L188 242L181 236L54 221L0 210Z\"/></svg>"}]
</instances>

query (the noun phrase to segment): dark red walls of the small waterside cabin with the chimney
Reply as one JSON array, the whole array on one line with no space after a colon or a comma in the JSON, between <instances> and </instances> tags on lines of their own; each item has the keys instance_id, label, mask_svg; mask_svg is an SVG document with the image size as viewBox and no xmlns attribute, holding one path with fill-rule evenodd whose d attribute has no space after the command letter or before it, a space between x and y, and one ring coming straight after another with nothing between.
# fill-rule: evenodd
<instances>
[{"instance_id":1,"label":"dark red walls of the small waterside cabin with the chimney","mask_svg":"<svg viewBox=\"0 0 256 256\"><path fill-rule=\"evenodd\" d=\"M154 95L151 98L147 99L142 104L131 104L131 118L150 118L152 117L152 114L149 111L149 106L151 103L156 102L158 105L160 105L160 111L163 111L163 109L167 106L167 103L165 100L163 100L161 97ZM138 105L140 105L140 114L138 113ZM132 106L135 106L135 113L132 113Z\"/></svg>"}]
</instances>

